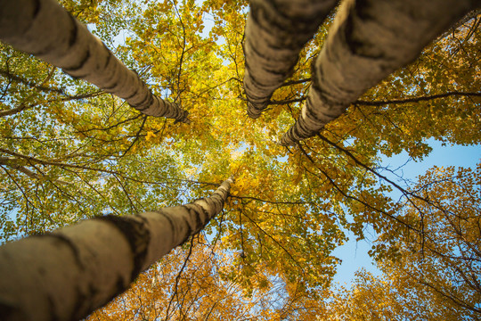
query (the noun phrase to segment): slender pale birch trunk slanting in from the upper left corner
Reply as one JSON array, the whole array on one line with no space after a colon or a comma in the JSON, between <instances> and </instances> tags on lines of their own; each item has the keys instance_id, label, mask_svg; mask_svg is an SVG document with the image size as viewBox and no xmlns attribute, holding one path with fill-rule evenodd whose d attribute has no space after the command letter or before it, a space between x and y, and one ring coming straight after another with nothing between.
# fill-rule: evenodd
<instances>
[{"instance_id":1,"label":"slender pale birch trunk slanting in from the upper left corner","mask_svg":"<svg viewBox=\"0 0 481 321\"><path fill-rule=\"evenodd\" d=\"M187 111L151 90L55 0L0 2L0 39L126 100L149 116L189 122Z\"/></svg>"}]
</instances>

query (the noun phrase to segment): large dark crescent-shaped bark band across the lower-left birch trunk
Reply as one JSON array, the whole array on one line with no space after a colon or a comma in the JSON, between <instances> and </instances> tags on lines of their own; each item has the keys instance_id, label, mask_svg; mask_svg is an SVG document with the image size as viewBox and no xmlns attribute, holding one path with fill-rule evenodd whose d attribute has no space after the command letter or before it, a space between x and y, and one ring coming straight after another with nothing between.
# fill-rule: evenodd
<instances>
[{"instance_id":1,"label":"large dark crescent-shaped bark band across the lower-left birch trunk","mask_svg":"<svg viewBox=\"0 0 481 321\"><path fill-rule=\"evenodd\" d=\"M143 262L147 256L147 250L149 249L149 243L151 242L151 232L145 226L145 221L142 217L142 221L139 222L133 218L118 217L115 215L107 215L103 217L97 217L94 219L108 222L112 226L118 228L118 231L124 235L126 241L130 245L130 249L134 254L134 268L130 277L130 282L135 280L142 272Z\"/></svg>"}]
</instances>

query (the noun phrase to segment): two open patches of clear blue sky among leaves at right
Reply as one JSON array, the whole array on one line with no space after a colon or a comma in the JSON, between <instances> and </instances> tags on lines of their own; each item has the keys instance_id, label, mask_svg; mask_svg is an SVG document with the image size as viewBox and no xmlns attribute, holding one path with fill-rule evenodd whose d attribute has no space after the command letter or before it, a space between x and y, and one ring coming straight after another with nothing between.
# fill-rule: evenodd
<instances>
[{"instance_id":1,"label":"two open patches of clear blue sky among leaves at right","mask_svg":"<svg viewBox=\"0 0 481 321\"><path fill-rule=\"evenodd\" d=\"M382 166L389 169L401 170L399 174L403 174L404 178L416 181L416 178L426 173L427 169L433 166L437 167L470 167L475 168L477 163L481 161L481 145L447 145L443 146L440 142L429 140L428 144L433 151L423 161L409 161L406 152L387 158L381 161ZM406 163L407 161L407 163ZM383 172L383 175L386 175ZM368 233L369 235L369 233ZM368 237L370 240L355 242L354 235L350 234L350 241L343 246L338 247L333 255L342 259L342 264L338 267L338 273L334 277L334 282L340 285L349 285L355 276L355 271L359 268L365 268L374 275L379 275L380 271L372 264L372 260L367 254L371 250L369 241L375 239L375 235Z\"/></svg>"}]
</instances>

